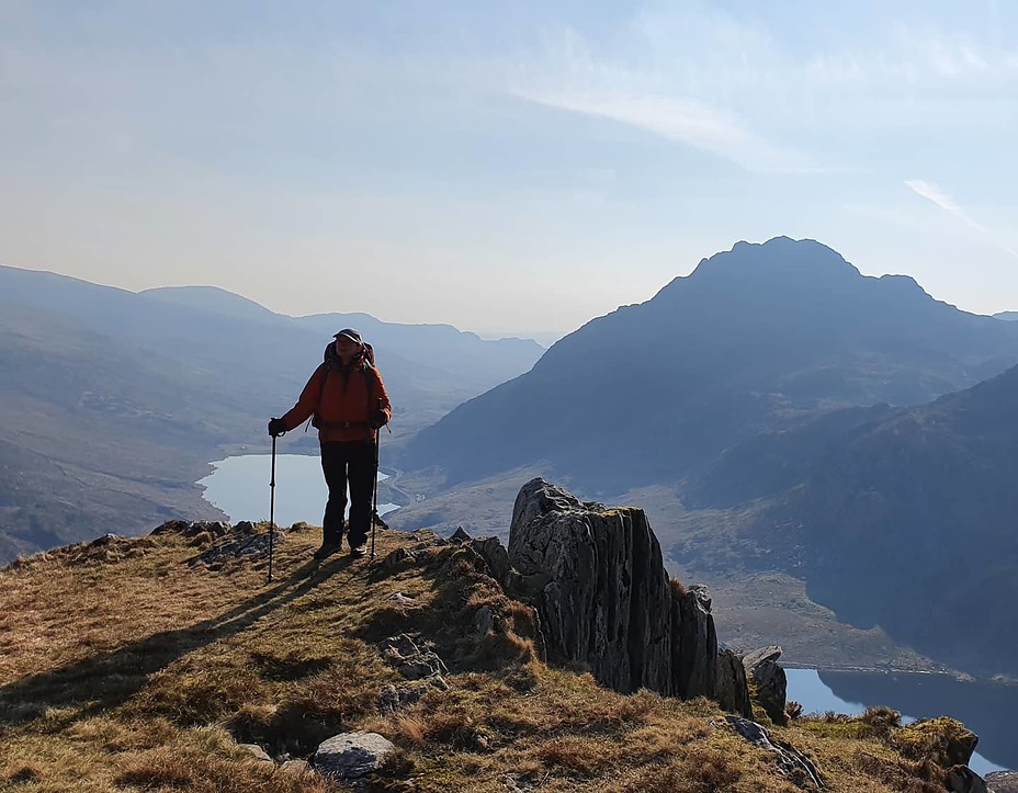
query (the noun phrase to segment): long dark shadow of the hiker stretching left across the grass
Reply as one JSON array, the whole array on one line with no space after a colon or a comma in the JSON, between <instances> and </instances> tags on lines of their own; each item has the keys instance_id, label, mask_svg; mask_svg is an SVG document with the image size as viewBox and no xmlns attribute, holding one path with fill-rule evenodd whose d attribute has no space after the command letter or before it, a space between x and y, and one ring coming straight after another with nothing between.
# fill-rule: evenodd
<instances>
[{"instance_id":1,"label":"long dark shadow of the hiker stretching left across the grass","mask_svg":"<svg viewBox=\"0 0 1018 793\"><path fill-rule=\"evenodd\" d=\"M0 687L0 727L33 722L50 709L73 709L73 713L50 716L70 724L116 707L136 694L152 673L188 653L245 631L349 563L349 557L321 565L308 562L271 589L215 618L155 633L113 652Z\"/></svg>"}]
</instances>

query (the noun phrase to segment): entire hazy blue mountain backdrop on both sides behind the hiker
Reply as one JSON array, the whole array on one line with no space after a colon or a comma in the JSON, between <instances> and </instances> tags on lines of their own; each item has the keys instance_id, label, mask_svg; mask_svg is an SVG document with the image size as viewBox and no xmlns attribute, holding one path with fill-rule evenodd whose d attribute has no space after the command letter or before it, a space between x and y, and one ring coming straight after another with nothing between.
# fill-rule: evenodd
<instances>
[{"instance_id":1,"label":"entire hazy blue mountain backdrop on both sides behind the hiker","mask_svg":"<svg viewBox=\"0 0 1018 793\"><path fill-rule=\"evenodd\" d=\"M387 460L428 496L401 528L484 525L464 505L499 514L486 499L499 477L518 489L514 469L584 497L656 486L655 528L689 569L781 571L842 620L1018 676L1014 620L993 608L1015 593L1018 322L863 276L818 242L740 242L543 355L205 287L3 269L0 294L0 556L114 514L140 529L207 509L192 484L206 462L263 445L353 325L395 397Z\"/></svg>"}]
</instances>

